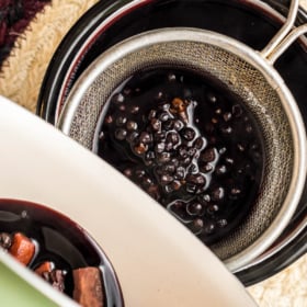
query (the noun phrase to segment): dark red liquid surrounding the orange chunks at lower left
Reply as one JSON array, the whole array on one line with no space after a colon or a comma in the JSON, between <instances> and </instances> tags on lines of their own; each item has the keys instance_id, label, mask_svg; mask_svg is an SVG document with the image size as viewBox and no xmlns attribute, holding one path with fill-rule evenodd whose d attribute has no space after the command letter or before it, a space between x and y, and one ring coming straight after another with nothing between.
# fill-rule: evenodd
<instances>
[{"instance_id":1,"label":"dark red liquid surrounding the orange chunks at lower left","mask_svg":"<svg viewBox=\"0 0 307 307\"><path fill-rule=\"evenodd\" d=\"M21 232L33 241L35 254L27 266L35 271L44 262L52 262L54 269L65 275L64 293L70 297L73 291L72 270L98 268L103 285L103 306L123 306L121 289L106 255L68 217L33 203L0 200L0 232L1 236L4 232L11 236ZM0 243L3 247L3 241L0 240Z\"/></svg>"}]
</instances>

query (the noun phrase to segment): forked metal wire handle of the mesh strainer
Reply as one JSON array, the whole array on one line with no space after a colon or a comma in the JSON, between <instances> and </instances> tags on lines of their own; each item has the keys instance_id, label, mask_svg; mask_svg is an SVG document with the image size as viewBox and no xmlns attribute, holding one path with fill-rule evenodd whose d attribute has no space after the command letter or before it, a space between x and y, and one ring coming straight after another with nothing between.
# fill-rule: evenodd
<instances>
[{"instance_id":1,"label":"forked metal wire handle of the mesh strainer","mask_svg":"<svg viewBox=\"0 0 307 307\"><path fill-rule=\"evenodd\" d=\"M296 38L298 38L302 34L307 33L307 24L292 30L297 16L299 0L292 0L286 22L270 41L266 47L260 53L261 56L269 60L272 65Z\"/></svg>"}]
</instances>

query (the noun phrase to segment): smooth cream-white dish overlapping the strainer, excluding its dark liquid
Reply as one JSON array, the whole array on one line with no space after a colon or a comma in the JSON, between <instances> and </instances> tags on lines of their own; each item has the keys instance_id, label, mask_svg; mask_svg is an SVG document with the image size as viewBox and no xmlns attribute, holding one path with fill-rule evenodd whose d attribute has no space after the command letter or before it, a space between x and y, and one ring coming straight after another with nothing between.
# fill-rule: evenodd
<instances>
[{"instance_id":1,"label":"smooth cream-white dish overlapping the strainer, excluding its dark liquid","mask_svg":"<svg viewBox=\"0 0 307 307\"><path fill-rule=\"evenodd\" d=\"M87 229L109 255L125 306L255 306L224 264L146 193L1 96L0 141L0 197L50 206Z\"/></svg>"}]
</instances>

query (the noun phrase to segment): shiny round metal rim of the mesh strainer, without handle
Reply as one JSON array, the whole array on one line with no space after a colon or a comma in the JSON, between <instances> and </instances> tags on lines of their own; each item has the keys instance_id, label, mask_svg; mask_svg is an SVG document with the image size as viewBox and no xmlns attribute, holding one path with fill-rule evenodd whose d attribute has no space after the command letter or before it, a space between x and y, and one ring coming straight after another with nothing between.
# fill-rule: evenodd
<instances>
[{"instance_id":1,"label":"shiny round metal rim of the mesh strainer, without handle","mask_svg":"<svg viewBox=\"0 0 307 307\"><path fill-rule=\"evenodd\" d=\"M126 55L127 53L136 52L148 45L186 39L223 47L227 52L235 53L255 69L258 69L265 77L270 86L277 91L289 122L294 143L293 147L298 149L294 150L294 163L292 172L293 177L291 179L288 192L278 214L259 239L257 239L243 251L230 257L225 261L225 264L228 266L228 269L232 272L236 272L241 266L246 265L259 254L264 252L265 249L268 249L274 242L274 240L277 239L282 230L288 224L303 193L307 169L306 132L298 106L296 105L292 93L289 92L280 73L266 59L260 55L260 53L231 37L200 29L171 27L149 31L146 32L146 34L140 33L111 47L100 57L98 57L92 62L92 65L89 66L83 75L77 80L69 96L67 98L67 103L59 117L57 127L59 127L65 134L69 134L71 121L79 105L78 98L83 95L83 93L88 90L92 82L94 82L101 71L105 70L122 56ZM265 240L260 240L261 238L265 238Z\"/></svg>"}]
</instances>

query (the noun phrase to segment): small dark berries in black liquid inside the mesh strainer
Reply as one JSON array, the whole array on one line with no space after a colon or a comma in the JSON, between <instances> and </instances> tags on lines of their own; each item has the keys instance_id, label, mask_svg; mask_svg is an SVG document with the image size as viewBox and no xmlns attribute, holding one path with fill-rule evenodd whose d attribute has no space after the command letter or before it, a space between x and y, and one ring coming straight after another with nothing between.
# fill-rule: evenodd
<instances>
[{"instance_id":1,"label":"small dark berries in black liquid inside the mesh strainer","mask_svg":"<svg viewBox=\"0 0 307 307\"><path fill-rule=\"evenodd\" d=\"M258 197L260 135L243 102L217 82L148 69L111 95L94 151L209 246L234 230Z\"/></svg>"}]
</instances>

